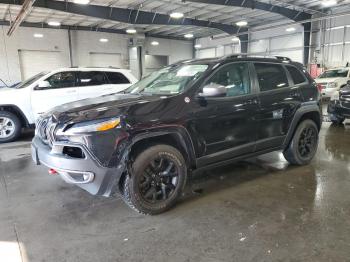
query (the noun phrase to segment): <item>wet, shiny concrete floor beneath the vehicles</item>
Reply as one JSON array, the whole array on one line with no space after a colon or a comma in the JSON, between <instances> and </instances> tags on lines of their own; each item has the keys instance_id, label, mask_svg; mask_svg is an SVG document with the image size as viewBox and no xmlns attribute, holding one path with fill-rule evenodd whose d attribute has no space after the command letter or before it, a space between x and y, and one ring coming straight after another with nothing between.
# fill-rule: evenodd
<instances>
[{"instance_id":1,"label":"wet, shiny concrete floor beneath the vehicles","mask_svg":"<svg viewBox=\"0 0 350 262\"><path fill-rule=\"evenodd\" d=\"M0 146L1 262L350 260L350 125L324 123L308 166L273 153L207 171L154 217L48 175L30 139Z\"/></svg>"}]
</instances>

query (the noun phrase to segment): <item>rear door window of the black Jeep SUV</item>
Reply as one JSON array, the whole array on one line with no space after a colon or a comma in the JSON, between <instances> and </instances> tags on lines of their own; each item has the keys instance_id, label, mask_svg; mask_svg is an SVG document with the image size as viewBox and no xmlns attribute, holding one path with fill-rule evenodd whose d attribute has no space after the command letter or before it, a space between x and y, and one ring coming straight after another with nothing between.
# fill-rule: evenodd
<instances>
[{"instance_id":1,"label":"rear door window of the black Jeep SUV","mask_svg":"<svg viewBox=\"0 0 350 262\"><path fill-rule=\"evenodd\" d=\"M263 92L288 87L287 74L281 65L267 63L255 63L254 65L260 91Z\"/></svg>"}]
</instances>

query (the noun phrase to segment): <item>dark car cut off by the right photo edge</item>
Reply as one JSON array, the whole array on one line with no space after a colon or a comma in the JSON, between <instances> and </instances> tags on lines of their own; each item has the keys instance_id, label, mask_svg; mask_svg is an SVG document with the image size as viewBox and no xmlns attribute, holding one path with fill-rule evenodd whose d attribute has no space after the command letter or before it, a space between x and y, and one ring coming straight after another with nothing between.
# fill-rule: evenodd
<instances>
[{"instance_id":1,"label":"dark car cut off by the right photo edge","mask_svg":"<svg viewBox=\"0 0 350 262\"><path fill-rule=\"evenodd\" d=\"M346 118L350 118L350 81L339 90L338 97L331 98L327 111L334 124L342 124Z\"/></svg>"}]
</instances>

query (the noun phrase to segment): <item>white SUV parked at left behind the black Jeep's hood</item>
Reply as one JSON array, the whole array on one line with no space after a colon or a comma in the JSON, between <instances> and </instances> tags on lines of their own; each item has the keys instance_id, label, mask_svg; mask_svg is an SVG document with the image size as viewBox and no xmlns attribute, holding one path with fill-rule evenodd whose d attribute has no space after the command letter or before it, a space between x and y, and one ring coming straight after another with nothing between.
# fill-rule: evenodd
<instances>
[{"instance_id":1,"label":"white SUV parked at left behind the black Jeep's hood","mask_svg":"<svg viewBox=\"0 0 350 262\"><path fill-rule=\"evenodd\" d=\"M33 127L41 114L55 106L118 93L136 82L123 69L63 68L0 88L0 143L16 140L22 127Z\"/></svg>"}]
</instances>

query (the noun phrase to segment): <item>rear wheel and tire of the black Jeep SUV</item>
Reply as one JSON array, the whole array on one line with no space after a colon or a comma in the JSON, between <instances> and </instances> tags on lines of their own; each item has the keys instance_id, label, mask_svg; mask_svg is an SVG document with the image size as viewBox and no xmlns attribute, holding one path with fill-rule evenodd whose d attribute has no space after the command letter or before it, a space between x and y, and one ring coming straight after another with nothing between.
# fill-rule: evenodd
<instances>
[{"instance_id":1,"label":"rear wheel and tire of the black Jeep SUV","mask_svg":"<svg viewBox=\"0 0 350 262\"><path fill-rule=\"evenodd\" d=\"M318 132L314 121L301 122L288 148L283 152L285 159L293 165L309 164L317 151Z\"/></svg>"}]
</instances>

